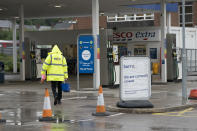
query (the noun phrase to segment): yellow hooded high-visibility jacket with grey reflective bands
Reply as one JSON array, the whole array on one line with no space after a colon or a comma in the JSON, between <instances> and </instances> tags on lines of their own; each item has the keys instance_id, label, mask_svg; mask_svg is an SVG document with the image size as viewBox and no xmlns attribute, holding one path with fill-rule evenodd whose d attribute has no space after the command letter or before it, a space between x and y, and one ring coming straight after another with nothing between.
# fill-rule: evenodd
<instances>
[{"instance_id":1,"label":"yellow hooded high-visibility jacket with grey reflective bands","mask_svg":"<svg viewBox=\"0 0 197 131\"><path fill-rule=\"evenodd\" d=\"M46 75L46 72L47 81L64 81L68 78L67 62L57 45L48 53L42 65L41 75Z\"/></svg>"}]
</instances>

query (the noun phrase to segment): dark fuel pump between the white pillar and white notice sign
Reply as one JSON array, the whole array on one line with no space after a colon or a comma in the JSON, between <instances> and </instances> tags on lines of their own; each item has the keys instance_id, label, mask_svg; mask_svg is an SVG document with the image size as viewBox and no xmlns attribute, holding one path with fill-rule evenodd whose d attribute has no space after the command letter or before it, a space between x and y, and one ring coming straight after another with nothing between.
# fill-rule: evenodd
<instances>
[{"instance_id":1,"label":"dark fuel pump between the white pillar and white notice sign","mask_svg":"<svg viewBox=\"0 0 197 131\"><path fill-rule=\"evenodd\" d=\"M113 30L100 30L100 69L103 87L120 84L120 57L127 55L127 43L113 43Z\"/></svg>"}]
</instances>

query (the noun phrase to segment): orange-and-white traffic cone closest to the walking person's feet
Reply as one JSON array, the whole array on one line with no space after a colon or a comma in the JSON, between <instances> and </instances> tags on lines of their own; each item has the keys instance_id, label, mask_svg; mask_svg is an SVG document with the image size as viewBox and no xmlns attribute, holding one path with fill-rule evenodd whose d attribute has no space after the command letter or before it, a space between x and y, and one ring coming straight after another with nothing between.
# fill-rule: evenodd
<instances>
[{"instance_id":1,"label":"orange-and-white traffic cone closest to the walking person's feet","mask_svg":"<svg viewBox=\"0 0 197 131\"><path fill-rule=\"evenodd\" d=\"M42 117L39 118L39 121L54 121L55 119L52 118L52 110L51 110L51 102L49 98L49 91L45 88L45 98L44 98L44 106Z\"/></svg>"}]
</instances>

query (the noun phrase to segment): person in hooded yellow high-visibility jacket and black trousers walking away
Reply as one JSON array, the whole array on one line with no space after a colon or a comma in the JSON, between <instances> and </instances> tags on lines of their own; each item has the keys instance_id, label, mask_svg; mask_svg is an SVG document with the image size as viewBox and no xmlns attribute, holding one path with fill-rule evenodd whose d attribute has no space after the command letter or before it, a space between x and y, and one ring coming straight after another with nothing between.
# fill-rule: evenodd
<instances>
[{"instance_id":1,"label":"person in hooded yellow high-visibility jacket and black trousers walking away","mask_svg":"<svg viewBox=\"0 0 197 131\"><path fill-rule=\"evenodd\" d=\"M61 104L61 84L63 81L68 79L68 67L66 58L62 55L62 52L59 50L57 45L55 45L52 51L48 53L48 56L42 65L41 75L42 83L45 79L47 81L51 81L51 88L54 96L54 105ZM56 92L57 87L58 93Z\"/></svg>"}]
</instances>

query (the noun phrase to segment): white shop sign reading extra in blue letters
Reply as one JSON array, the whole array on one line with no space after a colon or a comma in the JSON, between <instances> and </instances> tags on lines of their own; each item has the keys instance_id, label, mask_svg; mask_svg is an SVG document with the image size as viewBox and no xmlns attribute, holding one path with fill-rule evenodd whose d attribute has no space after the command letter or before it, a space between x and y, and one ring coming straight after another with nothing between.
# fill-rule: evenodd
<instances>
[{"instance_id":1,"label":"white shop sign reading extra in blue letters","mask_svg":"<svg viewBox=\"0 0 197 131\"><path fill-rule=\"evenodd\" d=\"M161 41L160 30L114 32L113 41Z\"/></svg>"}]
</instances>

